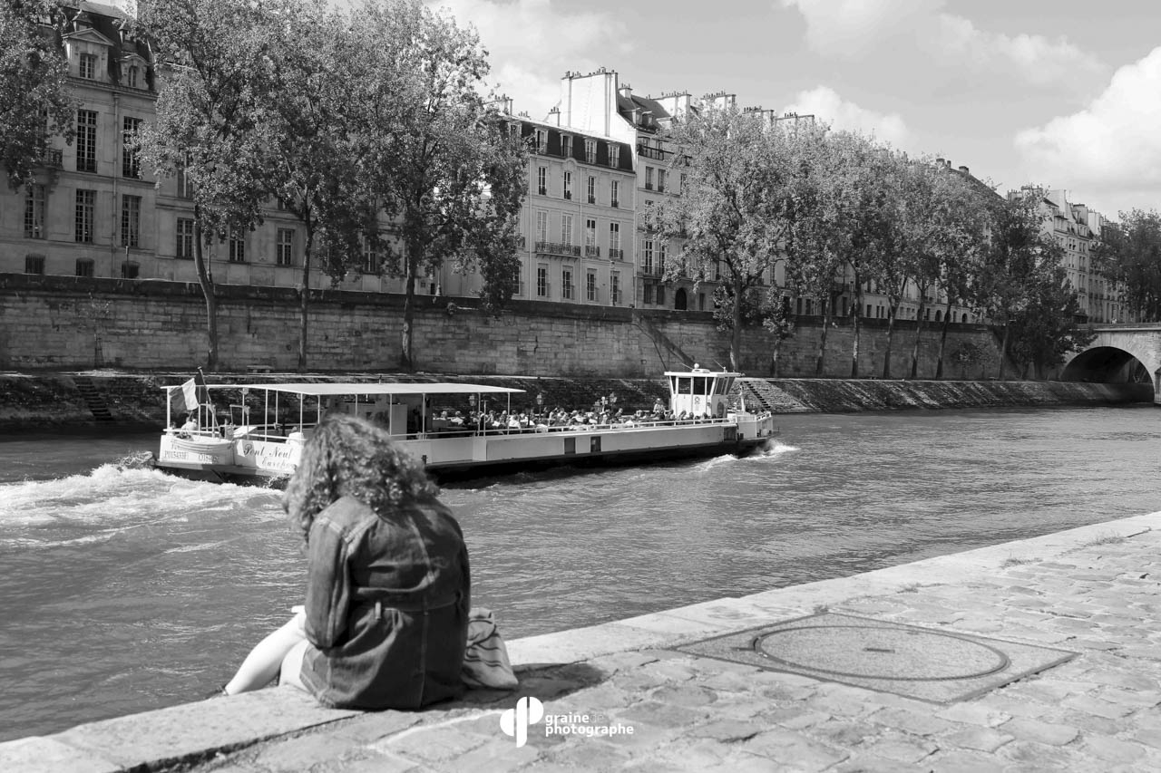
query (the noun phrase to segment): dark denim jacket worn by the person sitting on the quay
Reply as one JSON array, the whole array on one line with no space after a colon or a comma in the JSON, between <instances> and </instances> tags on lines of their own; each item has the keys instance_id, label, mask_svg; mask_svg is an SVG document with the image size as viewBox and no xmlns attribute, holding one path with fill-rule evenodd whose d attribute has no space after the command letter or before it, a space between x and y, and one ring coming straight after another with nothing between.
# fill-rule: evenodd
<instances>
[{"instance_id":1,"label":"dark denim jacket worn by the person sitting on the quay","mask_svg":"<svg viewBox=\"0 0 1161 773\"><path fill-rule=\"evenodd\" d=\"M320 703L418 708L460 694L471 584L446 506L380 518L345 497L315 519L308 554L302 680Z\"/></svg>"}]
</instances>

